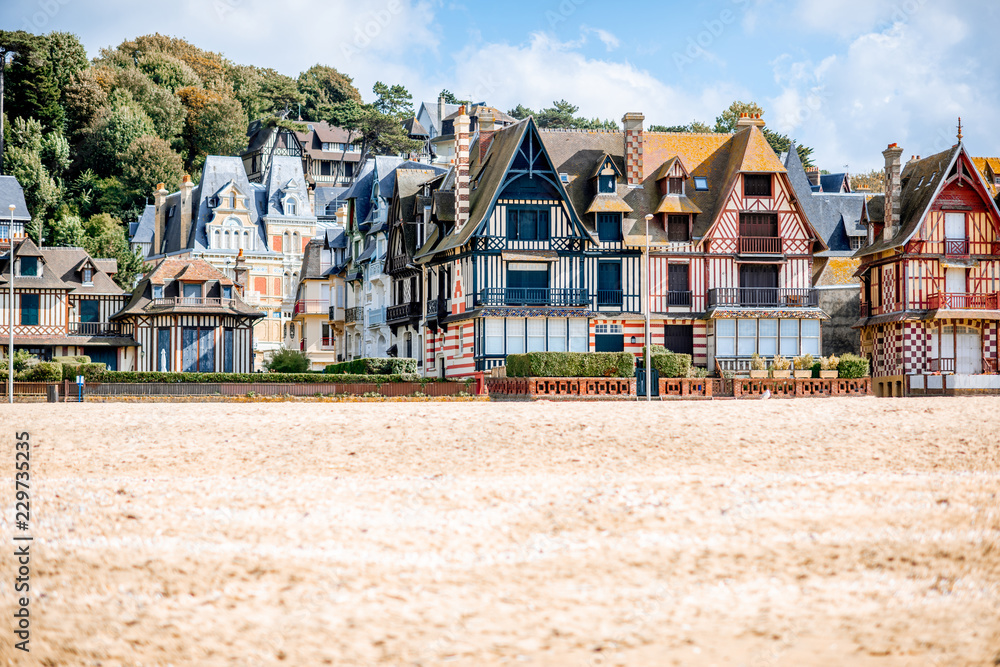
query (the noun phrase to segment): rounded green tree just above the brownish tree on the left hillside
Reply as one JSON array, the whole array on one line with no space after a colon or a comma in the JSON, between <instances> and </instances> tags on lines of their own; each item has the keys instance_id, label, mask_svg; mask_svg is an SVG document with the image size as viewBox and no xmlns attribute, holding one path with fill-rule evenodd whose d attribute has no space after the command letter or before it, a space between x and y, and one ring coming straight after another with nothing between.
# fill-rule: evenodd
<instances>
[{"instance_id":1,"label":"rounded green tree just above the brownish tree on the left hillside","mask_svg":"<svg viewBox=\"0 0 1000 667\"><path fill-rule=\"evenodd\" d=\"M155 133L153 121L134 103L104 107L85 131L80 156L82 164L101 176L114 174L119 171L122 157L132 142Z\"/></svg>"}]
</instances>

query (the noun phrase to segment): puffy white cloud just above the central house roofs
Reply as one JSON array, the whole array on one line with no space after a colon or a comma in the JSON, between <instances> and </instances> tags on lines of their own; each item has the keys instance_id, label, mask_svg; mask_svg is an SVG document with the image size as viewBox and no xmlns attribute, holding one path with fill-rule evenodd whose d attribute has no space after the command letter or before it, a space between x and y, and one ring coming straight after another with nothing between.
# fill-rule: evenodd
<instances>
[{"instance_id":1,"label":"puffy white cloud just above the central house roofs","mask_svg":"<svg viewBox=\"0 0 1000 667\"><path fill-rule=\"evenodd\" d=\"M588 58L574 46L540 32L527 44L467 47L456 55L452 90L502 109L517 104L539 109L566 99L587 117L617 121L628 111L642 111L647 125L714 118L746 93L729 84L675 88L628 61Z\"/></svg>"}]
</instances>

